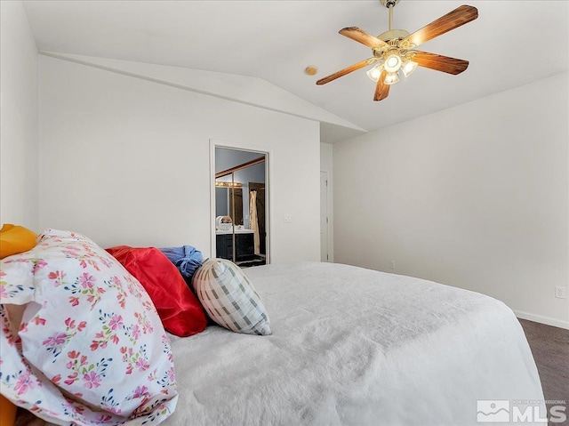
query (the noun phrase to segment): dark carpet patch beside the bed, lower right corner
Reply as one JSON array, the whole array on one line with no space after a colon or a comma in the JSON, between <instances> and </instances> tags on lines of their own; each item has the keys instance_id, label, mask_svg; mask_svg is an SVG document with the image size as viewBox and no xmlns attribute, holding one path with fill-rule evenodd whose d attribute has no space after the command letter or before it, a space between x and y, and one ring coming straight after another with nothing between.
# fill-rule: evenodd
<instances>
[{"instance_id":1,"label":"dark carpet patch beside the bed, lower right corner","mask_svg":"<svg viewBox=\"0 0 569 426\"><path fill-rule=\"evenodd\" d=\"M525 319L519 322L532 349L545 399L565 400L567 420L549 425L569 426L569 330Z\"/></svg>"}]
</instances>

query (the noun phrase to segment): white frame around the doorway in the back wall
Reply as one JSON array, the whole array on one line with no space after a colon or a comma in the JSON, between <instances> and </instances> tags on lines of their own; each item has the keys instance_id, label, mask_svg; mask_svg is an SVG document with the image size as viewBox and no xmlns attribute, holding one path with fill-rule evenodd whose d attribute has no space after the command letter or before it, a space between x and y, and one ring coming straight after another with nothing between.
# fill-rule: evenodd
<instances>
[{"instance_id":1,"label":"white frame around the doorway in the back wall","mask_svg":"<svg viewBox=\"0 0 569 426\"><path fill-rule=\"evenodd\" d=\"M271 258L271 235L273 234L272 221L273 217L273 198L270 190L270 181L272 181L272 173L270 161L273 156L271 149L266 149L258 145L242 142L228 142L216 139L210 139L210 258L215 258L217 253L216 237L215 237L215 149L235 149L239 151L256 152L265 156L265 204L268 204L265 212L265 228L267 229L267 253L266 264L270 263Z\"/></svg>"}]
</instances>

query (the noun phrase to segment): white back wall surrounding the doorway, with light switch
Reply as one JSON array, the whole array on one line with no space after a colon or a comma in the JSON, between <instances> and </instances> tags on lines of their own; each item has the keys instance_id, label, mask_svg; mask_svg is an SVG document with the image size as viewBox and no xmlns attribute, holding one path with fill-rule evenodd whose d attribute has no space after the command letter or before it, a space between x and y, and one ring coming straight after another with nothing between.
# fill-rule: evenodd
<instances>
[{"instance_id":1,"label":"white back wall surrounding the doorway, with light switch","mask_svg":"<svg viewBox=\"0 0 569 426\"><path fill-rule=\"evenodd\" d=\"M42 56L40 125L42 227L209 255L216 140L270 153L271 261L319 259L317 122Z\"/></svg>"}]
</instances>

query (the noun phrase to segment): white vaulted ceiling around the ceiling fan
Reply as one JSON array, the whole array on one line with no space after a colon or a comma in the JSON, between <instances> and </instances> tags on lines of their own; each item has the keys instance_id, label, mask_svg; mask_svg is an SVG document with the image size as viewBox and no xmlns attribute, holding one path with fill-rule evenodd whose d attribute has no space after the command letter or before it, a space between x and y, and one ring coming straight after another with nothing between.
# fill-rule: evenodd
<instances>
[{"instance_id":1,"label":"white vaulted ceiling around the ceiling fan","mask_svg":"<svg viewBox=\"0 0 569 426\"><path fill-rule=\"evenodd\" d=\"M394 28L413 32L464 3L477 7L478 19L421 50L469 60L469 68L459 76L419 68L374 102L365 68L315 83L371 56L338 30L386 31L389 12L379 0L24 2L40 51L257 76L367 131L569 69L565 0L401 0ZM304 74L308 65L316 76Z\"/></svg>"}]
</instances>

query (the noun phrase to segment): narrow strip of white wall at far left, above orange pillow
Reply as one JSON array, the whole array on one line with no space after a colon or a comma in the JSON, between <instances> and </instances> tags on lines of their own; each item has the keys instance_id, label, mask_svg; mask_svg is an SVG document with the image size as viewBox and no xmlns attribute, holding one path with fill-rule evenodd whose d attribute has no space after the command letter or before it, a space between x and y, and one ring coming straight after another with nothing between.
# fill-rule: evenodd
<instances>
[{"instance_id":1,"label":"narrow strip of white wall at far left, above orange pillow","mask_svg":"<svg viewBox=\"0 0 569 426\"><path fill-rule=\"evenodd\" d=\"M20 2L0 2L0 224L38 230L37 49Z\"/></svg>"}]
</instances>

